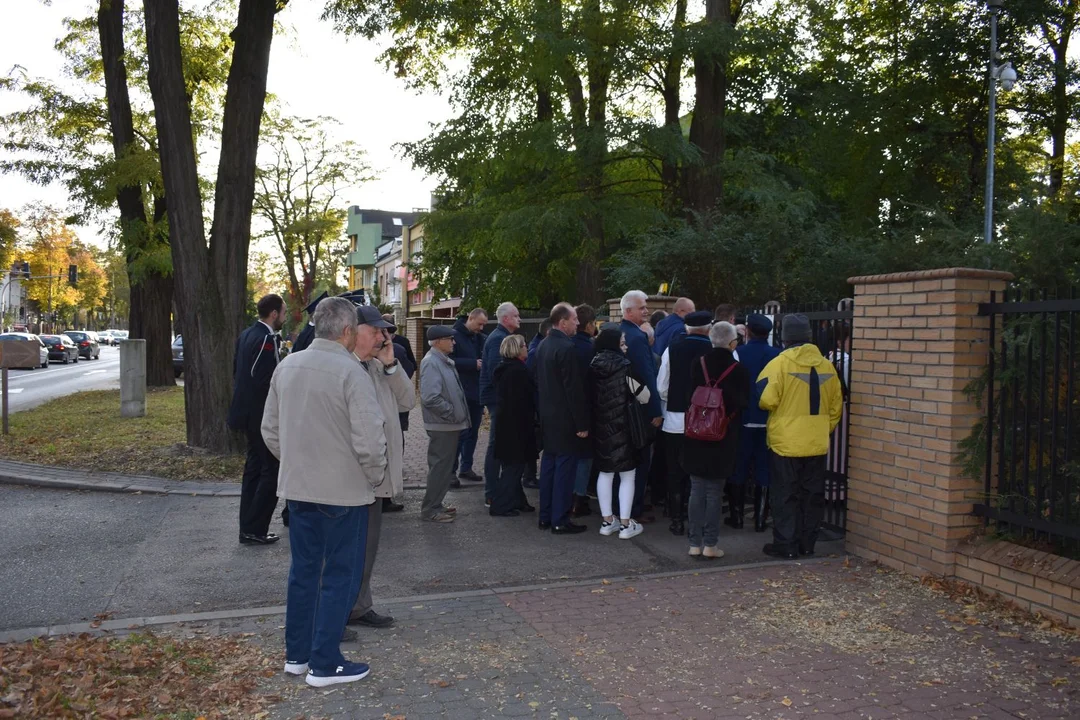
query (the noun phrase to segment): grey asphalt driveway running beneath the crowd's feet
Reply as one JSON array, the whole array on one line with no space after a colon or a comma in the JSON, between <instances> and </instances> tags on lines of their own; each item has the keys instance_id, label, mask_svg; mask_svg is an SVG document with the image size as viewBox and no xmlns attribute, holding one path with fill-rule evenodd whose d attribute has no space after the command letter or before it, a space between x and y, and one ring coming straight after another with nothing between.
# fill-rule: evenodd
<instances>
[{"instance_id":1,"label":"grey asphalt driveway running beneath the crowd's feet","mask_svg":"<svg viewBox=\"0 0 1080 720\"><path fill-rule=\"evenodd\" d=\"M81 365L81 364L80 364ZM535 491L534 491L535 493ZM482 493L450 493L459 520L419 520L421 492L389 515L375 569L378 597L505 587L561 579L701 567L685 540L650 525L630 541L555 536L535 516L492 518ZM534 502L536 498L534 497ZM0 486L0 629L92 620L284 604L287 538L237 542L238 498L80 492ZM271 530L287 533L274 518ZM766 538L721 531L725 562L767 559ZM841 551L841 543L820 547Z\"/></svg>"}]
</instances>

